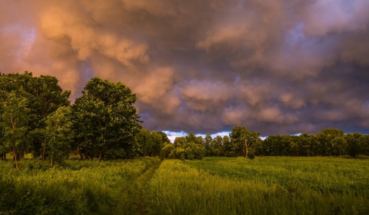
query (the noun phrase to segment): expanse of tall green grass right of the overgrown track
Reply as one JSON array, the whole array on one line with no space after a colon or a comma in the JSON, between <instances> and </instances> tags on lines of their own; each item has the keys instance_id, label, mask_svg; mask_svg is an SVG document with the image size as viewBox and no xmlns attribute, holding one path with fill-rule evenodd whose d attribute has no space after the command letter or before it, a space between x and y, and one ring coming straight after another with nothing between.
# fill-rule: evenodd
<instances>
[{"instance_id":1,"label":"expanse of tall green grass right of the overgrown track","mask_svg":"<svg viewBox=\"0 0 369 215\"><path fill-rule=\"evenodd\" d=\"M166 160L146 201L149 214L369 214L368 181L367 161Z\"/></svg>"}]
</instances>

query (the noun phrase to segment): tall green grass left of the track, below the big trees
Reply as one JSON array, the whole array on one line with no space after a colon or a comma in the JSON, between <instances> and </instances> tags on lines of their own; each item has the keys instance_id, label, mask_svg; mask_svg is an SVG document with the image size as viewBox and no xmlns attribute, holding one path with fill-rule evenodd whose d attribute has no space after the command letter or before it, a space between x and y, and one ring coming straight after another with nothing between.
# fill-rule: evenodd
<instances>
[{"instance_id":1,"label":"tall green grass left of the track, below the big trees","mask_svg":"<svg viewBox=\"0 0 369 215\"><path fill-rule=\"evenodd\" d=\"M0 162L0 214L107 214L121 192L155 163L66 161L49 166L37 160Z\"/></svg>"}]
</instances>

